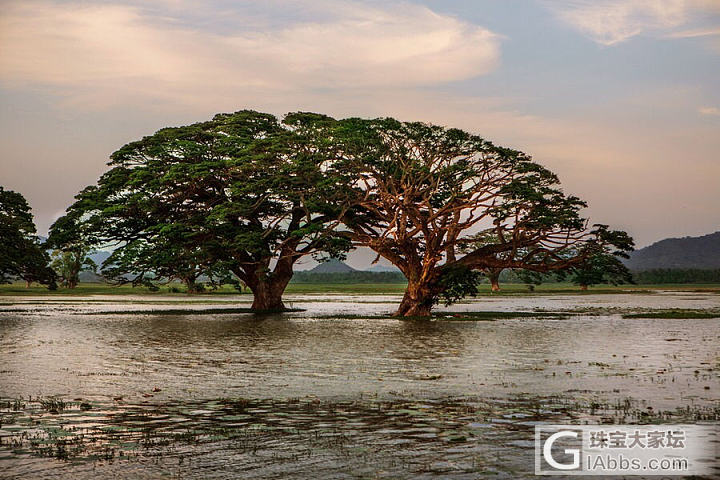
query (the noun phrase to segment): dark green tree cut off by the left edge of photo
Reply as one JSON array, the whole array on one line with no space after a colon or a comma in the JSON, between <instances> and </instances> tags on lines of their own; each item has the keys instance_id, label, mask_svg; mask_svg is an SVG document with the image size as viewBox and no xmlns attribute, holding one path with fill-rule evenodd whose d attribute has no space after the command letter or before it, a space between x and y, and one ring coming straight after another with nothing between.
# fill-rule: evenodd
<instances>
[{"instance_id":1,"label":"dark green tree cut off by the left edge of photo","mask_svg":"<svg viewBox=\"0 0 720 480\"><path fill-rule=\"evenodd\" d=\"M48 255L36 235L30 206L25 198L0 187L0 283L22 278L55 288Z\"/></svg>"}]
</instances>

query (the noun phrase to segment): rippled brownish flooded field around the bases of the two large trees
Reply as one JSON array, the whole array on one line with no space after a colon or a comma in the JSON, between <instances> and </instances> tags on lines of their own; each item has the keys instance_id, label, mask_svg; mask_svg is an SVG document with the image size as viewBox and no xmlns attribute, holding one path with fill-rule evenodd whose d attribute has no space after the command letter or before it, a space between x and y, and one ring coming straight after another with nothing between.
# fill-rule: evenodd
<instances>
[{"instance_id":1,"label":"rippled brownish flooded field around the bases of the two large trees","mask_svg":"<svg viewBox=\"0 0 720 480\"><path fill-rule=\"evenodd\" d=\"M720 295L492 297L424 322L384 317L391 296L288 300L1 298L1 475L529 478L538 422L720 420ZM668 309L710 318L624 318Z\"/></svg>"}]
</instances>

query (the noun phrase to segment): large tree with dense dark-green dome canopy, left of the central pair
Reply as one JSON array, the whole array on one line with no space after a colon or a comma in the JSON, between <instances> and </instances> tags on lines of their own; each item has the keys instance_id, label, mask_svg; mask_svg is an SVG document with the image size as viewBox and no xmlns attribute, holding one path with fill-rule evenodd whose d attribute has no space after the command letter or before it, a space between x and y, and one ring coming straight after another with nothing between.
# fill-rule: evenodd
<instances>
[{"instance_id":1,"label":"large tree with dense dark-green dome canopy, left of the central pair","mask_svg":"<svg viewBox=\"0 0 720 480\"><path fill-rule=\"evenodd\" d=\"M119 149L66 216L116 249L105 262L116 277L220 265L250 288L254 309L282 310L298 258L350 248L333 233L341 188L324 160L272 115L218 114Z\"/></svg>"}]
</instances>

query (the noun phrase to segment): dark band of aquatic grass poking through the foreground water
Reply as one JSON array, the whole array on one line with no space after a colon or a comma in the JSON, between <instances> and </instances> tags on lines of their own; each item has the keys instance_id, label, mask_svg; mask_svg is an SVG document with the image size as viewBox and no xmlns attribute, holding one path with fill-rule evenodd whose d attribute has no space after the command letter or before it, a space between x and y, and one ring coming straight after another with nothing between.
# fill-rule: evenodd
<instances>
[{"instance_id":1,"label":"dark band of aquatic grass poking through the foreground water","mask_svg":"<svg viewBox=\"0 0 720 480\"><path fill-rule=\"evenodd\" d=\"M22 411L2 412L8 423L24 428L8 430L11 434L0 438L0 451L71 462L151 459L175 464L214 452L233 455L249 466L292 465L292 472L319 462L341 461L350 468L354 464L347 462L358 461L385 466L391 462L402 471L418 473L447 460L466 465L467 473L477 473L480 464L463 445L480 442L483 448L497 449L506 440L529 441L528 425L536 422L652 424L720 418L717 407L688 404L655 411L644 400L625 397L613 402L594 395L585 398L580 392L508 398L238 397L158 405L108 403L98 405L102 416L92 420L73 417L72 403L58 415L38 415L48 401L3 402L3 406L24 406ZM208 413L192 414L199 410ZM247 415L238 422L238 415L228 415L232 410L247 410ZM486 462L481 463L487 468Z\"/></svg>"}]
</instances>

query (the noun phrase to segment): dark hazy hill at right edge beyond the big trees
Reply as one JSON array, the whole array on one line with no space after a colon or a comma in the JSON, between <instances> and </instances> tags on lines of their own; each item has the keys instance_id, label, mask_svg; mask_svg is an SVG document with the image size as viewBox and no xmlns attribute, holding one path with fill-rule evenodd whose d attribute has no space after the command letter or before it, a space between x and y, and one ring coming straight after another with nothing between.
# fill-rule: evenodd
<instances>
[{"instance_id":1,"label":"dark hazy hill at right edge beyond the big trees","mask_svg":"<svg viewBox=\"0 0 720 480\"><path fill-rule=\"evenodd\" d=\"M630 270L656 268L720 268L720 232L702 237L666 238L634 251L625 265Z\"/></svg>"}]
</instances>

